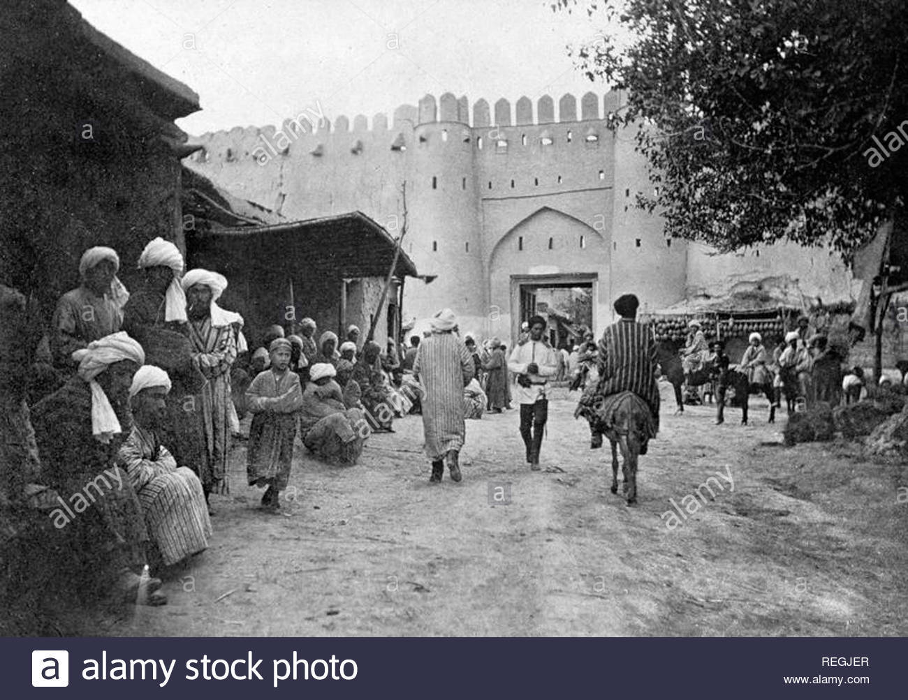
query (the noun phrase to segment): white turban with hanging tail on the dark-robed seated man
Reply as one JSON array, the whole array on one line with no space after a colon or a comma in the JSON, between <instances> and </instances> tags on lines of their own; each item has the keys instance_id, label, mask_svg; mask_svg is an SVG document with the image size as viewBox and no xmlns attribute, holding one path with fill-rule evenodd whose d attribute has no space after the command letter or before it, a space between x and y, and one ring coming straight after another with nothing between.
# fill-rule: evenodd
<instances>
[{"instance_id":1,"label":"white turban with hanging tail on the dark-robed seated man","mask_svg":"<svg viewBox=\"0 0 908 700\"><path fill-rule=\"evenodd\" d=\"M108 366L122 360L132 360L136 365L143 365L145 352L142 345L136 343L124 331L120 331L104 335L100 340L89 343L88 347L76 350L73 353L73 360L79 363L79 376L92 390L92 434L98 442L107 444L111 437L123 431L114 408L104 394L104 389L94 378Z\"/></svg>"}]
</instances>

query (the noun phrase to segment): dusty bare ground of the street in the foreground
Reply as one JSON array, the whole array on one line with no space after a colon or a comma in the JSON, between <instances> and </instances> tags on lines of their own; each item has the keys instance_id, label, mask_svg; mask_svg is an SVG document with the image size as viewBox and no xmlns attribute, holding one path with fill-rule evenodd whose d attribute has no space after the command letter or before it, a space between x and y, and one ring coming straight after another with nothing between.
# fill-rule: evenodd
<instances>
[{"instance_id":1,"label":"dusty bare ground of the street in the foreground","mask_svg":"<svg viewBox=\"0 0 908 700\"><path fill-rule=\"evenodd\" d=\"M418 416L370 438L360 464L294 462L281 515L245 485L245 444L212 547L172 573L163 608L100 634L148 636L908 635L903 464L844 442L786 449L782 422L664 411L640 502L608 491L576 398L550 404L543 472L523 463L517 411L468 421L464 481L429 485ZM577 394L573 394L574 397ZM669 393L664 387L664 401ZM664 403L664 407L673 403ZM716 472L715 499L667 528ZM489 502L507 483L510 503ZM715 484L714 484L715 486ZM706 493L706 491L704 491ZM706 494L708 499L708 494ZM904 498L903 498L904 500Z\"/></svg>"}]
</instances>

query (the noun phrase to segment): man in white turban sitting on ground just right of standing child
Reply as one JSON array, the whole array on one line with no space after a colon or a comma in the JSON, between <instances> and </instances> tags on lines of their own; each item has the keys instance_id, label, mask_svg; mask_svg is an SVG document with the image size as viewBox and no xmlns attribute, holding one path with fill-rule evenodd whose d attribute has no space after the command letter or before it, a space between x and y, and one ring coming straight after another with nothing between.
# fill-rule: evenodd
<instances>
[{"instance_id":1,"label":"man in white turban sitting on ground just right of standing child","mask_svg":"<svg viewBox=\"0 0 908 700\"><path fill-rule=\"evenodd\" d=\"M328 363L310 368L300 412L302 443L327 462L355 464L370 435L369 423L362 411L344 404L335 375L334 365Z\"/></svg>"}]
</instances>

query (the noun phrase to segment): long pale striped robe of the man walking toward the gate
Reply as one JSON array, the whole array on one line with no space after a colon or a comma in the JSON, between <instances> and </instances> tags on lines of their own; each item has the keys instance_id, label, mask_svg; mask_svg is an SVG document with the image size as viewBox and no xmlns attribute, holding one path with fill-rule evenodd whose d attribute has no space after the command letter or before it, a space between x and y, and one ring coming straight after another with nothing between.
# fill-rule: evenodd
<instances>
[{"instance_id":1,"label":"long pale striped robe of the man walking toward the gate","mask_svg":"<svg viewBox=\"0 0 908 700\"><path fill-rule=\"evenodd\" d=\"M423 387L422 427L425 451L433 462L463 447L467 425L463 388L473 378L473 358L452 333L433 333L419 344L413 374Z\"/></svg>"}]
</instances>

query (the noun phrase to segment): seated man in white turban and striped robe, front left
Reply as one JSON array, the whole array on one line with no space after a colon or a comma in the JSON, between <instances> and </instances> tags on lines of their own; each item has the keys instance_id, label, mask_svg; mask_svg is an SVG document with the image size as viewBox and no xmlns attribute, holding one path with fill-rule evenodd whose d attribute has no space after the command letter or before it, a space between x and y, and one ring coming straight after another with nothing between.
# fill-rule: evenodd
<instances>
[{"instance_id":1,"label":"seated man in white turban and striped robe, front left","mask_svg":"<svg viewBox=\"0 0 908 700\"><path fill-rule=\"evenodd\" d=\"M177 467L158 433L170 389L170 377L160 367L143 365L133 375L129 397L135 424L118 454L164 566L208 549L212 536L202 482L191 469Z\"/></svg>"}]
</instances>

